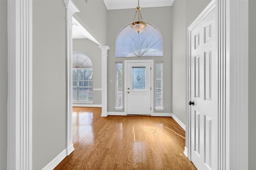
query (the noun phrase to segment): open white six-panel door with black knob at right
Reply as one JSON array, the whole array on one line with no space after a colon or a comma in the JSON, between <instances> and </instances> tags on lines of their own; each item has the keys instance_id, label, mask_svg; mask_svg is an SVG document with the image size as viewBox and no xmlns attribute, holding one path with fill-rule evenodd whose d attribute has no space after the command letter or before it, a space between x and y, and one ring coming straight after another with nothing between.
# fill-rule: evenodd
<instances>
[{"instance_id":1,"label":"open white six-panel door with black knob at right","mask_svg":"<svg viewBox=\"0 0 256 170\"><path fill-rule=\"evenodd\" d=\"M198 170L217 169L218 57L215 7L191 30L191 161ZM191 103L190 103L191 104Z\"/></svg>"}]
</instances>

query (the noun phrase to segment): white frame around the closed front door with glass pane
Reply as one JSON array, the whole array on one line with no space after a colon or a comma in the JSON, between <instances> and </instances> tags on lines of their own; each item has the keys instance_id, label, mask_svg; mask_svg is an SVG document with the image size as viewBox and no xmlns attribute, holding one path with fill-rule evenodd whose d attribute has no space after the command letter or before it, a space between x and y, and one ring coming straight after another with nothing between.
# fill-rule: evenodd
<instances>
[{"instance_id":1,"label":"white frame around the closed front door with glass pane","mask_svg":"<svg viewBox=\"0 0 256 170\"><path fill-rule=\"evenodd\" d=\"M124 114L127 115L127 63L150 63L151 64L151 101L150 101L150 115L153 115L154 108L154 60L153 59L145 59L145 60L124 60ZM152 68L153 67L153 68Z\"/></svg>"}]
</instances>

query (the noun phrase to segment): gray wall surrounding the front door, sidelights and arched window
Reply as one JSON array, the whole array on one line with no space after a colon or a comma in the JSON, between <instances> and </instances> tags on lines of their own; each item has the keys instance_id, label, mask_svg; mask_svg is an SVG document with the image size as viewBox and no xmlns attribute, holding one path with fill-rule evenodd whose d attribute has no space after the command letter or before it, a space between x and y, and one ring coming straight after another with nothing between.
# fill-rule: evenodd
<instances>
[{"instance_id":1,"label":"gray wall surrounding the front door, sidelights and arched window","mask_svg":"<svg viewBox=\"0 0 256 170\"><path fill-rule=\"evenodd\" d=\"M127 24L133 21L135 9L126 10L108 10L108 111L115 112L115 62L122 61L124 67L124 60L135 59L154 59L155 61L163 61L163 111L155 111L154 113L172 113L172 28L170 19L171 7L161 8L142 8L142 16L145 22L149 22L156 26L163 37L164 57L115 57L115 43L116 37L120 30ZM162 24L164 23L164 24ZM155 67L155 66L154 66ZM124 70L124 69L123 69ZM110 79L113 83L110 83ZM123 71L124 82L124 71ZM123 83L124 88L124 83ZM124 92L124 90L123 90ZM124 101L124 95L123 95ZM155 103L155 102L154 102ZM124 103L123 103L124 107ZM155 106L154 106L155 107ZM122 110L122 112L124 109Z\"/></svg>"}]
</instances>

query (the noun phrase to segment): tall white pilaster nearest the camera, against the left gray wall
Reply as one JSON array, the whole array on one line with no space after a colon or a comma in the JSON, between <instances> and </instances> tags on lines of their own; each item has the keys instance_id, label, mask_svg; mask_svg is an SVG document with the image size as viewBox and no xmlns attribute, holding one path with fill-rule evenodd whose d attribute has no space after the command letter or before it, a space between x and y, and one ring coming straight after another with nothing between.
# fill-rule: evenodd
<instances>
[{"instance_id":1,"label":"tall white pilaster nearest the camera, against the left gray wall","mask_svg":"<svg viewBox=\"0 0 256 170\"><path fill-rule=\"evenodd\" d=\"M73 133L72 133L72 16L75 12L79 12L78 8L71 0L64 0L66 5L66 21L67 21L67 34L66 34L66 101L67 101L67 136L66 136L66 155L69 155L74 150Z\"/></svg>"}]
</instances>

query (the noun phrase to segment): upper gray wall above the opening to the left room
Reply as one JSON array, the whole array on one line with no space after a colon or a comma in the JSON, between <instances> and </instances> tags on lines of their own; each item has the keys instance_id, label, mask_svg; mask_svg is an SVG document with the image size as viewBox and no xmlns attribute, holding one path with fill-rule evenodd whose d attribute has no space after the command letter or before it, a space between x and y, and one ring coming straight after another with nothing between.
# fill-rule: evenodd
<instances>
[{"instance_id":1,"label":"upper gray wall above the opening to the left room","mask_svg":"<svg viewBox=\"0 0 256 170\"><path fill-rule=\"evenodd\" d=\"M103 0L72 0L80 10L74 18L100 43L107 45L107 9ZM78 16L78 17L77 17Z\"/></svg>"}]
</instances>

